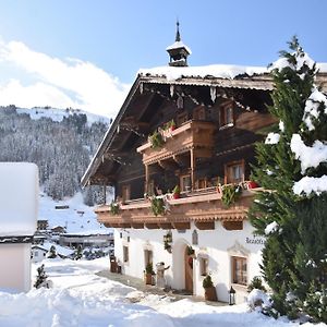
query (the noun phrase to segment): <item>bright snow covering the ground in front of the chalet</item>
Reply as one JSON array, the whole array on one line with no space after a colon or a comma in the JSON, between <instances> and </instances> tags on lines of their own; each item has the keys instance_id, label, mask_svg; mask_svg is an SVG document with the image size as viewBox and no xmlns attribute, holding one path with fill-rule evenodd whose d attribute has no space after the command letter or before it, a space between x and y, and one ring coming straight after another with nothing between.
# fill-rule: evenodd
<instances>
[{"instance_id":1,"label":"bright snow covering the ground in front of the chalet","mask_svg":"<svg viewBox=\"0 0 327 327\"><path fill-rule=\"evenodd\" d=\"M190 300L173 302L167 296L145 294L96 276L96 271L108 267L108 258L93 262L47 259L44 263L53 288L34 289L27 294L0 292L0 326L300 326L258 313L247 313L245 305L217 307ZM33 266L33 271L37 266Z\"/></svg>"}]
</instances>

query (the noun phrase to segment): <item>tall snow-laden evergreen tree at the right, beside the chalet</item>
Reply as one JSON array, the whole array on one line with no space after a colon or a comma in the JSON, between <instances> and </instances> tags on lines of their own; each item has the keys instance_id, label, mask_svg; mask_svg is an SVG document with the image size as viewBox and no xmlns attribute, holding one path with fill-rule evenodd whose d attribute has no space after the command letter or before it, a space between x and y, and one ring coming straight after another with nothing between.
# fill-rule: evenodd
<instances>
[{"instance_id":1,"label":"tall snow-laden evergreen tree at the right, beside the chalet","mask_svg":"<svg viewBox=\"0 0 327 327\"><path fill-rule=\"evenodd\" d=\"M327 183L322 184L327 178L327 99L314 84L315 63L295 37L290 48L271 69L269 111L280 131L257 145L253 179L266 191L256 196L249 216L266 237L262 270L275 310L326 322L319 312L326 312ZM314 307L317 293L322 305Z\"/></svg>"}]
</instances>

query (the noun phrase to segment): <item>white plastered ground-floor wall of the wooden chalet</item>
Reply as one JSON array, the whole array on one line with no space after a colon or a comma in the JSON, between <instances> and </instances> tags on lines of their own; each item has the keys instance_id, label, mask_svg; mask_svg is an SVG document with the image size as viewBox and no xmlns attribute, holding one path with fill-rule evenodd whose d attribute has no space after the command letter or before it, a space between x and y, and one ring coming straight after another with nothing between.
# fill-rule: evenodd
<instances>
[{"instance_id":1,"label":"white plastered ground-floor wall of the wooden chalet","mask_svg":"<svg viewBox=\"0 0 327 327\"><path fill-rule=\"evenodd\" d=\"M122 272L125 275L143 278L145 269L144 250L153 251L154 266L158 262L165 262L170 265L166 270L167 283L175 289L185 287L184 277L184 251L186 245L192 245L195 254L201 253L208 257L208 271L211 275L216 286L219 301L228 302L228 290L231 286L237 291L237 303L244 302L247 294L246 287L231 283L231 256L243 256L247 261L247 282L254 276L259 276L261 250L263 239L255 238L252 232L253 228L249 221L244 221L243 230L226 230L220 221L216 221L215 230L197 230L198 245L192 244L192 232L195 226L183 233L177 230L172 231L172 253L164 249L164 235L167 230L154 229L116 229L114 231L114 253L117 258L122 263ZM120 238L122 233L122 238ZM128 238L130 242L128 242ZM247 238L247 239L246 239ZM129 246L129 263L123 263L123 245ZM196 295L204 295L202 287L203 278L199 275L199 261L194 259L193 265L193 292Z\"/></svg>"}]
</instances>

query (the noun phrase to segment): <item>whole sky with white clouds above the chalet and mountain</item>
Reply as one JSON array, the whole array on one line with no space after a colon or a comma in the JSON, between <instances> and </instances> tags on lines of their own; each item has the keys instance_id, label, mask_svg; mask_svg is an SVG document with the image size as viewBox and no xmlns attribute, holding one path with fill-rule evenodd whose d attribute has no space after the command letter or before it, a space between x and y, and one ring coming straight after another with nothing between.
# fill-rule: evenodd
<instances>
[{"instance_id":1,"label":"whole sky with white clouds above the chalet and mountain","mask_svg":"<svg viewBox=\"0 0 327 327\"><path fill-rule=\"evenodd\" d=\"M190 65L266 66L294 34L327 62L326 12L326 0L0 0L0 105L111 116L140 68L167 64L177 17Z\"/></svg>"}]
</instances>

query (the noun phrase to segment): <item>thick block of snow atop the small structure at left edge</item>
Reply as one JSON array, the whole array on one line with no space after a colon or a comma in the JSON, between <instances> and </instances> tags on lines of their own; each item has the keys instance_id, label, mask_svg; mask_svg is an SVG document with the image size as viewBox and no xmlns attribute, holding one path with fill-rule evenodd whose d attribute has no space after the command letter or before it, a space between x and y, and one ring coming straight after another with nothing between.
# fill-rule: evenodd
<instances>
[{"instance_id":1,"label":"thick block of snow atop the small structure at left edge","mask_svg":"<svg viewBox=\"0 0 327 327\"><path fill-rule=\"evenodd\" d=\"M38 209L38 168L0 162L0 237L33 235Z\"/></svg>"}]
</instances>

